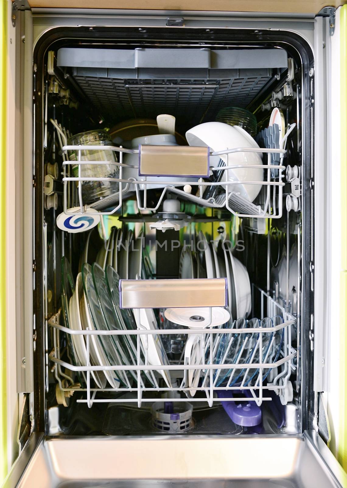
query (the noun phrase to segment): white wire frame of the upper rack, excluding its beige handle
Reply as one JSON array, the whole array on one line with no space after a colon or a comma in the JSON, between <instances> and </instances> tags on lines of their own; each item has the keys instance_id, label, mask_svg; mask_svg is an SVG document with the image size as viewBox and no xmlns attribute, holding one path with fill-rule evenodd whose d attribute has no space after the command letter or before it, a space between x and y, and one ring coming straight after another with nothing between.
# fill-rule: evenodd
<instances>
[{"instance_id":1,"label":"white wire frame of the upper rack, excluding its beige handle","mask_svg":"<svg viewBox=\"0 0 347 488\"><path fill-rule=\"evenodd\" d=\"M54 126L56 127L57 131L59 132L60 129L58 125L51 121ZM205 182L200 179L196 179L196 181L192 181L192 178L187 177L187 181L184 180L184 177L180 177L180 181L165 181L165 176L172 180L171 175L164 175L162 176L162 180L160 181L160 185L162 185L162 191L158 198L158 201L154 206L148 205L148 198L147 198L147 186L157 184L158 181L153 181L146 176L136 178L123 178L123 168L127 167L128 165L123 163L123 153L132 153L138 154L138 149L126 149L124 147L116 147L116 146L102 146L104 151L114 151L115 153L119 153L119 162L109 162L109 161L82 161L82 151L97 151L100 150L100 146L92 146L92 145L67 145L66 137L60 131L60 136L64 141L64 145L62 147L62 154L64 155L63 161L63 209L66 215L83 215L88 208L93 208L95 210L105 209L108 207L107 211L97 211L98 214L101 215L111 215L114 214L119 208L121 208L123 200L126 196L129 195L129 190L135 187L135 194L137 200L137 206L139 210L146 210L146 211L153 211L156 212L162 203L165 195L167 193L175 193L178 197L190 200L193 203L213 207L213 208L223 208L225 207L229 210L232 214L238 215L238 217L251 217L251 218L272 218L272 219L279 219L282 217L282 206L283 206L283 186L284 182L282 181L284 175L282 171L286 169L286 167L282 164L283 158L286 153L285 144L288 138L289 133L294 129L295 124L291 124L287 130L286 135L284 136L281 147L278 149L269 149L269 148L255 148L255 147L237 147L232 149L224 149L222 151L215 151L210 152L210 156L222 156L225 155L227 158L226 165L221 167L210 167L211 171L218 171L223 170L227 173L226 181L220 182ZM65 138L65 139L64 139ZM162 146L162 148L165 146ZM171 146L168 146L171 147ZM184 146L182 146L184 147ZM65 155L68 151L75 151L77 153L77 161L70 161L65 160ZM267 164L259 165L251 165L251 164L229 164L229 155L235 153L266 153L268 155L268 162ZM271 154L280 154L280 164L273 165L271 164ZM83 165L99 165L99 164L107 164L107 165L114 165L119 167L119 178L106 178L106 177L82 177L81 176L81 167ZM67 168L70 165L76 165L78 167L78 176L70 176L70 171L67 171ZM128 166L129 167L129 166ZM131 166L134 169L138 169L139 166ZM263 169L265 172L265 178L263 181L241 181L236 180L231 177L231 171L248 168L248 169ZM278 169L278 176L271 177L271 170ZM189 168L187 168L187 175L189 175ZM233 180L233 181L231 181ZM96 203L86 205L83 202L82 198L82 182L118 182L119 183L119 191L110 195L102 200L99 200ZM70 201L68 195L72 193L70 189L70 184L76 185L78 188L78 198L77 198L77 206L79 206L79 210L71 211L70 208ZM205 200L203 197L192 195L188 192L181 190L180 188L184 187L185 185L190 186L198 186L200 195L203 195L204 187L222 187L221 193L216 198L210 198ZM243 185L245 188L249 187L250 185L260 185L264 187L263 191L263 202L262 204L256 205L243 196L240 195L239 191L233 190L235 185ZM143 194L140 188L143 189ZM180 187L180 188L179 188ZM272 190L272 192L271 192ZM89 215L92 215L91 211L88 211Z\"/></svg>"}]
</instances>

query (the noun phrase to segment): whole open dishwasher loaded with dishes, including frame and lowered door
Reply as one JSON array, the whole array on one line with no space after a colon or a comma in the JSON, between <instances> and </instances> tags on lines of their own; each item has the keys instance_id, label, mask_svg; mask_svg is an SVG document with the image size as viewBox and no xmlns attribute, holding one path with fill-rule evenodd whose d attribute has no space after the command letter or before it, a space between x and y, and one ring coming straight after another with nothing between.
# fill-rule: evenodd
<instances>
[{"instance_id":1,"label":"whole open dishwasher loaded with dishes, including frame and lowered door","mask_svg":"<svg viewBox=\"0 0 347 488\"><path fill-rule=\"evenodd\" d=\"M4 486L344 486L321 396L334 9L12 9L23 404Z\"/></svg>"}]
</instances>

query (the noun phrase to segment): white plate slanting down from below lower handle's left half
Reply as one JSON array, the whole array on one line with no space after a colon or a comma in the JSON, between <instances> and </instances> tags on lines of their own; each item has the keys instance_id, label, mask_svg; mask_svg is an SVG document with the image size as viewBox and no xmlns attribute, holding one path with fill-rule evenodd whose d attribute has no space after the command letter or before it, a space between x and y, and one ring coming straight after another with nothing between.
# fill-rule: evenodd
<instances>
[{"instance_id":1,"label":"white plate slanting down from below lower handle's left half","mask_svg":"<svg viewBox=\"0 0 347 488\"><path fill-rule=\"evenodd\" d=\"M137 310L134 310L136 326L138 329L144 328L147 330L155 330L156 319L152 308L140 308L140 323L138 322ZM141 327L142 326L142 327ZM161 342L159 335L148 334L148 364L150 365L169 365L169 360L166 355L164 346ZM143 348L146 350L146 336L141 335L141 342ZM170 371L164 369L157 370L159 374L164 378L166 385L171 388Z\"/></svg>"}]
</instances>

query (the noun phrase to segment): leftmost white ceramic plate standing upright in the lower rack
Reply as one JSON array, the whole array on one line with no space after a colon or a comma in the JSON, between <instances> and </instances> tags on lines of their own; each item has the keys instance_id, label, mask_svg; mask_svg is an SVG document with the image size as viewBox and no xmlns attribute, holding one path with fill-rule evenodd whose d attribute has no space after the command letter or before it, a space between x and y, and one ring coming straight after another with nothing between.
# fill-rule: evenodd
<instances>
[{"instance_id":1,"label":"leftmost white ceramic plate standing upright in the lower rack","mask_svg":"<svg viewBox=\"0 0 347 488\"><path fill-rule=\"evenodd\" d=\"M82 323L81 323L81 316L79 311L79 301L83 294L83 287L82 287L82 274L78 273L76 278L76 286L75 286L75 293L70 299L70 318L71 318L71 328L74 330L83 330ZM75 345L75 349L77 352L77 357L81 366L87 365L87 347L84 340L84 336L82 335L72 335L72 340ZM91 342L92 344L92 342ZM92 359L92 352L90 348L90 359ZM91 361L93 362L93 360ZM96 385L99 388L104 388L106 386L106 377L103 374L103 371L91 371L92 378L94 379ZM86 376L83 372L83 376ZM87 379L86 379L87 383Z\"/></svg>"}]
</instances>

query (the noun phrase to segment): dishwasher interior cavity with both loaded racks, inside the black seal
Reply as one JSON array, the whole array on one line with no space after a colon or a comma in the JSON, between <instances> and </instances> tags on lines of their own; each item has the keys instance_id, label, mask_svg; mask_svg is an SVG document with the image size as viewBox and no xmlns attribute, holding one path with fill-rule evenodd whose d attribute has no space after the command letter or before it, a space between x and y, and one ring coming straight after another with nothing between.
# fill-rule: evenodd
<instances>
[{"instance_id":1,"label":"dishwasher interior cavity with both loaded racks, inside the black seal","mask_svg":"<svg viewBox=\"0 0 347 488\"><path fill-rule=\"evenodd\" d=\"M39 426L302 432L308 46L285 32L64 29L34 52Z\"/></svg>"}]
</instances>

